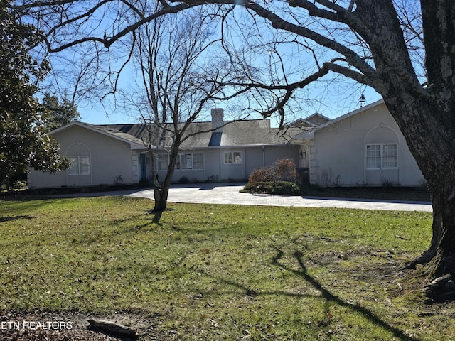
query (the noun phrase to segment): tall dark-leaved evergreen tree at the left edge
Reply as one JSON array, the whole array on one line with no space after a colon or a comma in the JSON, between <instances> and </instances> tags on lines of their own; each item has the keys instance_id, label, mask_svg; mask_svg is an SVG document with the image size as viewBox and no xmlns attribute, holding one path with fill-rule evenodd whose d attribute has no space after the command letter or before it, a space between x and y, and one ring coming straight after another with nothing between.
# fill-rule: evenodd
<instances>
[{"instance_id":1,"label":"tall dark-leaved evergreen tree at the left edge","mask_svg":"<svg viewBox=\"0 0 455 341\"><path fill-rule=\"evenodd\" d=\"M30 50L37 43L35 28L0 8L0 183L9 190L11 176L26 173L28 167L55 172L68 168L58 144L46 134L38 114L42 111L37 82L49 71Z\"/></svg>"}]
</instances>

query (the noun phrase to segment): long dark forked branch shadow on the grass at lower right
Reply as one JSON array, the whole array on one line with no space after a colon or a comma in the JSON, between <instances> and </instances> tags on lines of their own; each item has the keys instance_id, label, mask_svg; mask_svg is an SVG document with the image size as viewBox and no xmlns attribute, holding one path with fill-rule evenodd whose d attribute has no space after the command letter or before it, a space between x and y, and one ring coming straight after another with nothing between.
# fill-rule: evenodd
<instances>
[{"instance_id":1,"label":"long dark forked branch shadow on the grass at lower right","mask_svg":"<svg viewBox=\"0 0 455 341\"><path fill-rule=\"evenodd\" d=\"M314 288L316 288L319 292L321 292L322 298L325 299L327 301L327 303L333 302L333 303L340 305L343 308L348 308L350 310L353 310L357 313L362 314L363 316L365 316L365 318L368 318L368 320L370 320L375 325L378 325L381 328L384 328L385 330L392 332L392 334L395 337L400 338L400 340L412 340L412 341L420 340L416 337L411 337L410 335L406 335L404 332L402 332L402 330L393 327L392 325L385 322L384 320L381 320L381 318L378 315L375 315L375 313L371 312L367 308L365 308L361 305L355 304L355 303L351 304L346 301L343 301L341 298L339 298L338 296L336 296L333 293L331 293L330 291L328 291L325 287L323 287L323 285L321 283L319 283L319 281L316 280L316 278L314 278L308 274L308 271L307 271L304 261L302 259L303 254L301 254L300 251L297 251L297 250L294 251L293 256L298 261L301 270L291 269L291 268L289 268L289 266L280 264L279 260L283 256L283 251L277 249L277 252L278 252L278 254L276 256L274 256L272 259L272 264L274 264L275 266L279 266L283 269L286 269L288 271L291 271L294 274L296 274L297 276L301 276L302 278L304 278L304 280L306 282L310 283L312 286L314 286Z\"/></svg>"}]
</instances>

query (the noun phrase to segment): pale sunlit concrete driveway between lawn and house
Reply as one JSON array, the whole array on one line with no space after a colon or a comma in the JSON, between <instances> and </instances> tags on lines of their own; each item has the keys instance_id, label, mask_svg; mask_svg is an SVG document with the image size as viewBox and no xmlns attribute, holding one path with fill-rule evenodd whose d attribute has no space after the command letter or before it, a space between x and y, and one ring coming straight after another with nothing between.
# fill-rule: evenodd
<instances>
[{"instance_id":1,"label":"pale sunlit concrete driveway between lawn and house","mask_svg":"<svg viewBox=\"0 0 455 341\"><path fill-rule=\"evenodd\" d=\"M432 212L430 202L404 202L391 200L357 200L333 197L299 197L267 194L249 194L239 191L245 184L239 183L201 183L172 185L168 202L188 202L198 204L233 204L295 207L338 207L362 210L400 210ZM124 191L118 195L146 197L154 199L154 190ZM103 195L112 195L105 193Z\"/></svg>"}]
</instances>

